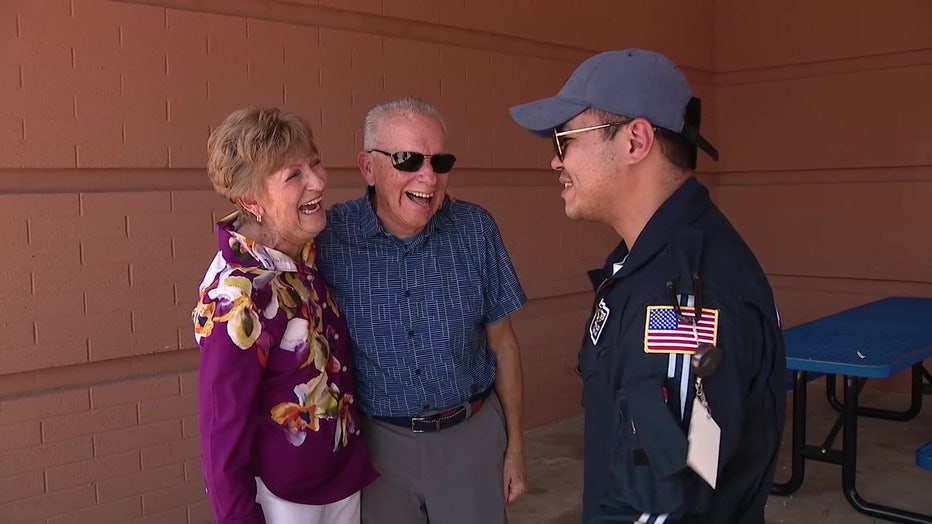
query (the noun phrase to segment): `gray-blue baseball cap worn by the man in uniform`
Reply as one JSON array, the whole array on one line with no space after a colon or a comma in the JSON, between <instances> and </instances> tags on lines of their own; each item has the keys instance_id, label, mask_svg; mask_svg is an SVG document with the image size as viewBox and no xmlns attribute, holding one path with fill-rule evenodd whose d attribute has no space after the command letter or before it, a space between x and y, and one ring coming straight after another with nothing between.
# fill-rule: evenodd
<instances>
[{"instance_id":1,"label":"gray-blue baseball cap worn by the man in uniform","mask_svg":"<svg viewBox=\"0 0 932 524\"><path fill-rule=\"evenodd\" d=\"M542 137L589 108L631 118L678 133L718 160L718 150L699 134L700 101L680 68L644 49L599 53L576 68L556 96L511 108L520 126Z\"/></svg>"}]
</instances>

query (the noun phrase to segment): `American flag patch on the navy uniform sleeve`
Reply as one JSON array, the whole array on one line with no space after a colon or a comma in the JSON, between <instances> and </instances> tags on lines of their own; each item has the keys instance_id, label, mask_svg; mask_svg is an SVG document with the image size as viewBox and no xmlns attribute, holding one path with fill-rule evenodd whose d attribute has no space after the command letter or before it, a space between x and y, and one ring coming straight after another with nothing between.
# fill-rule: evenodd
<instances>
[{"instance_id":1,"label":"American flag patch on the navy uniform sleeve","mask_svg":"<svg viewBox=\"0 0 932 524\"><path fill-rule=\"evenodd\" d=\"M696 309L680 306L680 313L684 317L693 318ZM714 346L718 337L718 310L702 308L702 316L695 329L693 327L691 322L680 321L673 306L647 306L644 352L691 355L696 352L699 344Z\"/></svg>"}]
</instances>

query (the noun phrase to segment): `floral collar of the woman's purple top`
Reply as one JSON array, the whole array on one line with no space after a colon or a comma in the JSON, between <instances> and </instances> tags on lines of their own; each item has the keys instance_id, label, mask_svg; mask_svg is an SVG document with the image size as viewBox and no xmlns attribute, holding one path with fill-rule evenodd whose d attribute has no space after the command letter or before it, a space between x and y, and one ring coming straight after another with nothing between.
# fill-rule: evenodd
<instances>
[{"instance_id":1,"label":"floral collar of the woman's purple top","mask_svg":"<svg viewBox=\"0 0 932 524\"><path fill-rule=\"evenodd\" d=\"M313 240L304 245L301 260L295 262L281 251L241 235L236 231L241 223L239 212L233 212L217 222L217 247L230 267L286 272L307 272L316 268L317 247Z\"/></svg>"}]
</instances>

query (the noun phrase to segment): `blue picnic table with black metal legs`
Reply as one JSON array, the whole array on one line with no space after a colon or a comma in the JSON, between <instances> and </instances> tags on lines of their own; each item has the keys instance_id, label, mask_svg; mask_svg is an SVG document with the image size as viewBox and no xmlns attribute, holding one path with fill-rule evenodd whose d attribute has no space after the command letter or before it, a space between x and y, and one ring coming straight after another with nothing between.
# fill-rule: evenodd
<instances>
[{"instance_id":1,"label":"blue picnic table with black metal legs","mask_svg":"<svg viewBox=\"0 0 932 524\"><path fill-rule=\"evenodd\" d=\"M802 485L805 460L840 465L842 491L858 511L893 522L932 524L932 515L864 500L858 494L857 424L859 416L909 420L922 408L929 379L923 361L932 357L932 298L891 297L871 302L784 331L787 369L793 373L790 480L774 483L771 493L789 495ZM891 377L911 368L910 405L902 411L858 405L869 378ZM812 374L826 376L826 396L840 411L820 446L806 444L806 384ZM843 380L844 401L835 394ZM842 431L842 449L832 448Z\"/></svg>"}]
</instances>

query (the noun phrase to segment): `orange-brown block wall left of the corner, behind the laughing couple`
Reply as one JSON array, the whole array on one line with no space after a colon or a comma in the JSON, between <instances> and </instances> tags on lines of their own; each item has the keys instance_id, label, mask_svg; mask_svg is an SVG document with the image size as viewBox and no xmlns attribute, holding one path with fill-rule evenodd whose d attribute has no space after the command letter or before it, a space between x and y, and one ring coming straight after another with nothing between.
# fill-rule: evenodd
<instances>
[{"instance_id":1,"label":"orange-brown block wall left of the corner, behind the laughing couple","mask_svg":"<svg viewBox=\"0 0 932 524\"><path fill-rule=\"evenodd\" d=\"M577 413L584 270L615 236L565 219L549 145L507 108L628 45L711 98L711 1L671 4L0 0L0 523L209 520L189 314L229 205L203 151L248 104L309 119L336 202L362 192L365 111L435 102L461 159L451 191L496 216L530 297L527 426Z\"/></svg>"}]
</instances>

